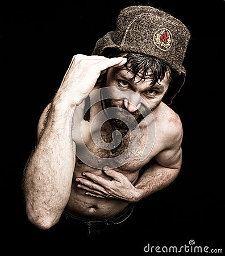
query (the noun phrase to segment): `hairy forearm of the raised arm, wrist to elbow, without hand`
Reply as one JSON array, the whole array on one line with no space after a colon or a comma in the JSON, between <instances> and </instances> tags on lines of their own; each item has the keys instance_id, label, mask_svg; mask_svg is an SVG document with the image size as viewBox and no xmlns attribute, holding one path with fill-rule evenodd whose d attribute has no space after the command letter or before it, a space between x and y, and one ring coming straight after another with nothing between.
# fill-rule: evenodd
<instances>
[{"instance_id":1,"label":"hairy forearm of the raised arm, wrist to elbow, without hand","mask_svg":"<svg viewBox=\"0 0 225 256\"><path fill-rule=\"evenodd\" d=\"M38 142L23 176L28 219L41 229L47 229L59 221L69 199L75 163L69 138L73 109L57 107L52 102L48 106L48 115L41 115Z\"/></svg>"}]
</instances>

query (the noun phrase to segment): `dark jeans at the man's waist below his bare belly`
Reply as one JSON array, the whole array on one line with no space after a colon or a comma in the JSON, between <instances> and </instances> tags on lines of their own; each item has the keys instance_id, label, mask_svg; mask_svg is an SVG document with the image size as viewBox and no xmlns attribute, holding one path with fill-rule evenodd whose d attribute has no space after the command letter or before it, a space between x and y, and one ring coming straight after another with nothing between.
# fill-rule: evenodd
<instances>
[{"instance_id":1,"label":"dark jeans at the man's waist below his bare belly","mask_svg":"<svg viewBox=\"0 0 225 256\"><path fill-rule=\"evenodd\" d=\"M133 209L134 204L128 204L127 207L122 210L122 212L116 214L116 216L113 218L94 221L87 221L64 211L61 219L68 225L74 225L74 229L79 229L80 232L83 232L86 237L94 237L98 236L99 234L116 231L121 228L127 218L131 216Z\"/></svg>"}]
</instances>

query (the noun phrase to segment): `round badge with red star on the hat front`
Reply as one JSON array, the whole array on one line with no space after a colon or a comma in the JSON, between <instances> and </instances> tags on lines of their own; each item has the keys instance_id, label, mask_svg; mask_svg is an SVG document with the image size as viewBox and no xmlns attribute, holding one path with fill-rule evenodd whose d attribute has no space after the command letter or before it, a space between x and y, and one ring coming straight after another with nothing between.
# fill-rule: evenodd
<instances>
[{"instance_id":1,"label":"round badge with red star on the hat front","mask_svg":"<svg viewBox=\"0 0 225 256\"><path fill-rule=\"evenodd\" d=\"M153 40L154 44L163 51L168 51L168 49L173 44L172 34L167 28L161 28L160 30L157 30Z\"/></svg>"}]
</instances>

